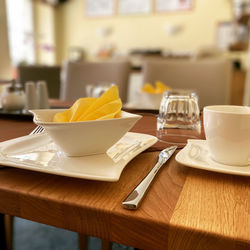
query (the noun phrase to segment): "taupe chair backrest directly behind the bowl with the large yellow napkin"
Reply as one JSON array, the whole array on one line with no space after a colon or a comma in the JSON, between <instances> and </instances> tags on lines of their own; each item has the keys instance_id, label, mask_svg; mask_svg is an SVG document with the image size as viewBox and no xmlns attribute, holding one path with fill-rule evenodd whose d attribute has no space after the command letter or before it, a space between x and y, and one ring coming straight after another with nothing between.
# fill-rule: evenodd
<instances>
[{"instance_id":1,"label":"taupe chair backrest directly behind the bowl with the large yellow napkin","mask_svg":"<svg viewBox=\"0 0 250 250\"><path fill-rule=\"evenodd\" d=\"M88 84L115 83L122 101L126 102L129 73L130 63L127 61L64 62L60 99L74 101L86 96Z\"/></svg>"}]
</instances>

